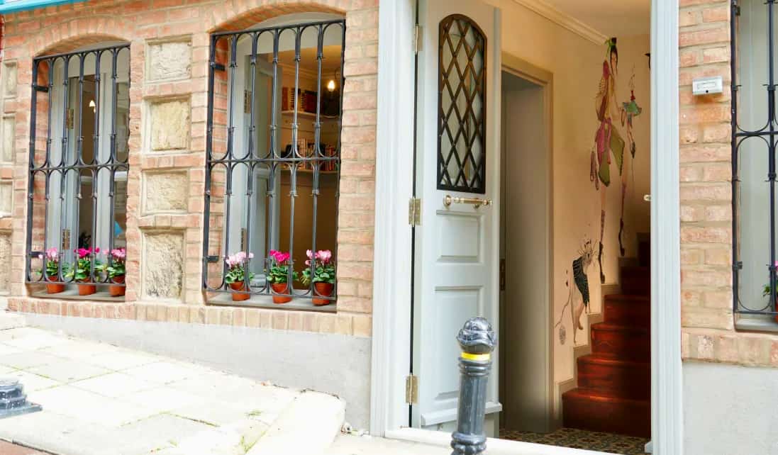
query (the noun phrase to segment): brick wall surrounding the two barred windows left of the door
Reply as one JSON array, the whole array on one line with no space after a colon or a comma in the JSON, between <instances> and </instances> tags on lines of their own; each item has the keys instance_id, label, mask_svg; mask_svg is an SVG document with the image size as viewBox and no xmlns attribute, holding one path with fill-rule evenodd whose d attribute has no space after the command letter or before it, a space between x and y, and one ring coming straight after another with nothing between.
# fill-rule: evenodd
<instances>
[{"instance_id":1,"label":"brick wall surrounding the two barred windows left of the door","mask_svg":"<svg viewBox=\"0 0 778 455\"><path fill-rule=\"evenodd\" d=\"M10 131L14 131L15 140L0 141L4 148L0 156L7 152L12 157L12 162L0 162L0 185L13 184L12 195L9 192L8 196L12 198L12 218L0 219L0 235L11 236L11 252L10 257L0 257L0 262L11 270L9 308L75 317L174 320L369 336L378 0L195 0L181 4L178 0L88 0L5 16L0 85L4 124L0 132L5 131L6 121L12 122ZM338 312L207 307L201 277L209 33L242 30L293 12L335 12L346 19ZM24 282L32 58L107 40L131 44L126 303L33 299ZM177 55L191 51L184 65L159 65L154 61L169 55L163 47L171 43ZM158 128L166 128L163 132L181 141L157 140ZM170 204L156 205L153 196L144 190L166 177L183 183L171 190L176 194L168 194L175 201L173 208ZM160 266L156 252L177 245L180 260ZM0 254L4 250L0 248ZM159 267L168 269L157 270ZM0 270L3 268L0 264ZM160 273L180 277L180 289L149 282Z\"/></svg>"}]
</instances>

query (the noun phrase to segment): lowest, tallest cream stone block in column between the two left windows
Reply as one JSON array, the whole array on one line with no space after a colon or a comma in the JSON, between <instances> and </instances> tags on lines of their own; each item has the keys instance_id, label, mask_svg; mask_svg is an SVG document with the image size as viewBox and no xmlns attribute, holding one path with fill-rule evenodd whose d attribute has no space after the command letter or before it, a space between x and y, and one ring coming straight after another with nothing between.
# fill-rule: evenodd
<instances>
[{"instance_id":1,"label":"lowest, tallest cream stone block in column between the two left windows","mask_svg":"<svg viewBox=\"0 0 778 455\"><path fill-rule=\"evenodd\" d=\"M141 273L144 296L179 300L184 287L183 231L144 233Z\"/></svg>"}]
</instances>

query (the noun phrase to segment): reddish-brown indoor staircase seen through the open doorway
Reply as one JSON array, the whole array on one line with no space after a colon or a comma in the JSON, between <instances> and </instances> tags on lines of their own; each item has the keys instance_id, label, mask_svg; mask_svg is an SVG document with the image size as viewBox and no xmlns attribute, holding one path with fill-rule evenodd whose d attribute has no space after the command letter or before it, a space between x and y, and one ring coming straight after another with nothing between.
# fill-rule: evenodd
<instances>
[{"instance_id":1,"label":"reddish-brown indoor staircase seen through the open doorway","mask_svg":"<svg viewBox=\"0 0 778 455\"><path fill-rule=\"evenodd\" d=\"M577 388L562 394L567 428L651 436L650 269L621 268L622 293L605 296L591 325L591 354L577 359Z\"/></svg>"}]
</instances>

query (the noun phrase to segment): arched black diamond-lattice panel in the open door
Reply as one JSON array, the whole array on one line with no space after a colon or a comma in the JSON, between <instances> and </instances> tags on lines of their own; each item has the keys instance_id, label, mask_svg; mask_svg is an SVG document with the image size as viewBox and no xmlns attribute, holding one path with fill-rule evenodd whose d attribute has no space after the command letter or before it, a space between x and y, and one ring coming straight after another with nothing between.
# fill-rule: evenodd
<instances>
[{"instance_id":1,"label":"arched black diamond-lattice panel in the open door","mask_svg":"<svg viewBox=\"0 0 778 455\"><path fill-rule=\"evenodd\" d=\"M467 16L440 21L439 190L485 193L486 37Z\"/></svg>"}]
</instances>

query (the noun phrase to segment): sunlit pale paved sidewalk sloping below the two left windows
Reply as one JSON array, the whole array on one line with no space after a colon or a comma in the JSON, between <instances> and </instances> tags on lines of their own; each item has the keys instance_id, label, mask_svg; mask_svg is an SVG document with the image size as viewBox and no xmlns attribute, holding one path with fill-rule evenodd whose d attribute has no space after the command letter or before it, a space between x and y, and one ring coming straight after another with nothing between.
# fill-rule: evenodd
<instances>
[{"instance_id":1,"label":"sunlit pale paved sidewalk sloping below the two left windows","mask_svg":"<svg viewBox=\"0 0 778 455\"><path fill-rule=\"evenodd\" d=\"M0 439L61 455L254 455L304 439L282 428L298 415L317 422L326 447L343 422L344 404L330 395L30 327L0 330L8 376L44 411L0 420Z\"/></svg>"}]
</instances>

